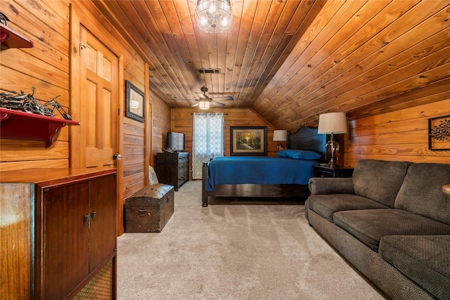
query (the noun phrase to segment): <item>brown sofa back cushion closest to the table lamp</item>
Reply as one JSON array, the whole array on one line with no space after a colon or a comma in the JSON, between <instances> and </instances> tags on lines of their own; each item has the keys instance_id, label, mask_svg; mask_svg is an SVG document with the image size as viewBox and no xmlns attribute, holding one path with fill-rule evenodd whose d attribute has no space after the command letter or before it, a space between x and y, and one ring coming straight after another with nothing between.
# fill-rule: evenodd
<instances>
[{"instance_id":1,"label":"brown sofa back cushion closest to the table lamp","mask_svg":"<svg viewBox=\"0 0 450 300\"><path fill-rule=\"evenodd\" d=\"M353 171L353 185L356 195L394 207L411 162L387 162L384 160L361 159Z\"/></svg>"}]
</instances>

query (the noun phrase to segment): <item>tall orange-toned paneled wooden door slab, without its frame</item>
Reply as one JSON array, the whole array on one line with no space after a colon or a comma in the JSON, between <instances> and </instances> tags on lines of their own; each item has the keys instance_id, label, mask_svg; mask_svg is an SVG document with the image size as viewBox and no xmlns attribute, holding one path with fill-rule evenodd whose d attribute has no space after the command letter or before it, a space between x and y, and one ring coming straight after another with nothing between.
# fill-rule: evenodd
<instances>
[{"instance_id":1,"label":"tall orange-toned paneled wooden door slab, without its frame","mask_svg":"<svg viewBox=\"0 0 450 300\"><path fill-rule=\"evenodd\" d=\"M118 58L84 27L80 28L80 42L83 167L114 167Z\"/></svg>"}]
</instances>

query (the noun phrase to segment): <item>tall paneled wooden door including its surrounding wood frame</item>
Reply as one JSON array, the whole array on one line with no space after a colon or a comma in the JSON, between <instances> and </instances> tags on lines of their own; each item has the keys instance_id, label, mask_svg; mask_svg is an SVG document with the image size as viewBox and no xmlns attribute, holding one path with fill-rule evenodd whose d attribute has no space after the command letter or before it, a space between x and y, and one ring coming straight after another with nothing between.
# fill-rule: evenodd
<instances>
[{"instance_id":1,"label":"tall paneled wooden door including its surrounding wood frame","mask_svg":"<svg viewBox=\"0 0 450 300\"><path fill-rule=\"evenodd\" d=\"M113 155L120 154L123 148L120 132L120 101L124 97L122 62L105 44L113 41L98 31L97 39L82 25L78 15L81 13L73 6L70 113L81 125L70 128L70 167L116 167L118 192L122 190L123 162L113 160ZM89 26L96 30L96 25ZM117 193L117 203L122 202L123 193ZM124 232L123 223L123 205L117 205L119 235Z\"/></svg>"}]
</instances>

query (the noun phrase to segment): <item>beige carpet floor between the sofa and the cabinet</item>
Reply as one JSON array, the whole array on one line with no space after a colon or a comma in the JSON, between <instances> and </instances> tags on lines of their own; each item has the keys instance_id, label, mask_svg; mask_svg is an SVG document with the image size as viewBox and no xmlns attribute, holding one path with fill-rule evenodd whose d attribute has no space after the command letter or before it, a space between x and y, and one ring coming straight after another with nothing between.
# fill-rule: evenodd
<instances>
[{"instance_id":1,"label":"beige carpet floor between the sofa and the cabinet","mask_svg":"<svg viewBox=\"0 0 450 300\"><path fill-rule=\"evenodd\" d=\"M202 207L175 192L161 233L118 238L118 299L385 299L304 219L303 205Z\"/></svg>"}]
</instances>

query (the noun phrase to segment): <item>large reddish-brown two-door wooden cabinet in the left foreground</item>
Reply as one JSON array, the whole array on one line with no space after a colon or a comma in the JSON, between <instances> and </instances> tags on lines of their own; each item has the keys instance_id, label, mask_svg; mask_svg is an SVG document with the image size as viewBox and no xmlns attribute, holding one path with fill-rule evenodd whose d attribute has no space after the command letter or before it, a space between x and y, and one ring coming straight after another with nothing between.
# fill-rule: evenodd
<instances>
[{"instance_id":1,"label":"large reddish-brown two-door wooden cabinet in the left foreground","mask_svg":"<svg viewBox=\"0 0 450 300\"><path fill-rule=\"evenodd\" d=\"M0 178L2 299L115 299L116 170Z\"/></svg>"}]
</instances>

